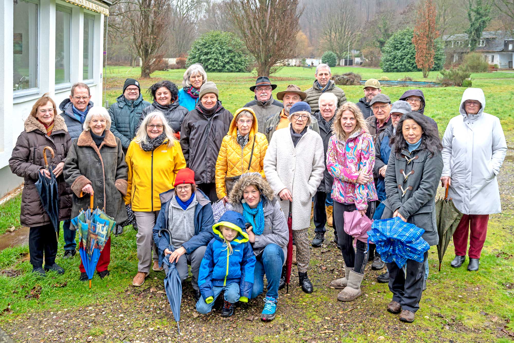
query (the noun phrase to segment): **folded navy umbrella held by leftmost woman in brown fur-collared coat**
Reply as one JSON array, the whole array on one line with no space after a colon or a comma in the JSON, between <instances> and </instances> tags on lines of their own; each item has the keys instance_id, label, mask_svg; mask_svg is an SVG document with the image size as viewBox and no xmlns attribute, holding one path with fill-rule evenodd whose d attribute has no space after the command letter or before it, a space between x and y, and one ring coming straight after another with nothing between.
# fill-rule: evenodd
<instances>
[{"instance_id":1,"label":"folded navy umbrella held by leftmost woman in brown fur-collared coat","mask_svg":"<svg viewBox=\"0 0 514 343\"><path fill-rule=\"evenodd\" d=\"M41 199L41 204L43 205L43 209L50 217L50 222L53 225L53 229L56 230L56 236L59 232L59 191L57 189L57 180L56 176L53 175L53 165L51 167L48 166L48 162L46 160L46 150L50 150L52 159L54 158L54 153L52 148L49 146L45 146L43 149L43 157L45 159L45 169L50 172L50 178L47 178L45 175L38 173L38 181L35 183L35 188L38 190L39 198Z\"/></svg>"}]
</instances>

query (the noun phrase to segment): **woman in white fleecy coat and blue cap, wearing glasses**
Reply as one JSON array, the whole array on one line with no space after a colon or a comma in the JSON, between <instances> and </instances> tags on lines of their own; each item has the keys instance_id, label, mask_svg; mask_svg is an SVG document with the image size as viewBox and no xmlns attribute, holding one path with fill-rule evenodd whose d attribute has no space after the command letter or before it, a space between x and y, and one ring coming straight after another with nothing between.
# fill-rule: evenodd
<instances>
[{"instance_id":1,"label":"woman in white fleecy coat and blue cap, wearing glasses","mask_svg":"<svg viewBox=\"0 0 514 343\"><path fill-rule=\"evenodd\" d=\"M290 124L273 133L264 158L264 173L273 192L280 197L284 214L290 212L296 242L296 259L300 285L305 293L313 292L307 276L310 252L307 230L310 204L323 179L323 141L309 128L310 107L299 101L289 110Z\"/></svg>"}]
</instances>

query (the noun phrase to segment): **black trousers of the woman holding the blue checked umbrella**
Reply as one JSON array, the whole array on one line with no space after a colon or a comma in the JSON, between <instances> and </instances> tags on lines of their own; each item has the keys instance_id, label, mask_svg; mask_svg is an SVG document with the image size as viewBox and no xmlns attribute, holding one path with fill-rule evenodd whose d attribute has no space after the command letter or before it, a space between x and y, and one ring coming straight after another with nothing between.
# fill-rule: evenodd
<instances>
[{"instance_id":1,"label":"black trousers of the woman holding the blue checked umbrella","mask_svg":"<svg viewBox=\"0 0 514 343\"><path fill-rule=\"evenodd\" d=\"M389 290L393 293L393 301L399 302L402 310L416 312L419 309L428 251L425 252L423 257L424 260L421 263L407 260L405 264L407 274L396 263L387 263Z\"/></svg>"}]
</instances>

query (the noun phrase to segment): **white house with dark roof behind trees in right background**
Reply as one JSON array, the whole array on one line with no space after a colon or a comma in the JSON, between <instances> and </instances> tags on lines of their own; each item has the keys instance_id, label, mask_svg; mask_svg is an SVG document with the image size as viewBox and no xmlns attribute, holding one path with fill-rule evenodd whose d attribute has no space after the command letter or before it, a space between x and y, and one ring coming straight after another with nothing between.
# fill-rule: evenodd
<instances>
[{"instance_id":1,"label":"white house with dark roof behind trees in right background","mask_svg":"<svg viewBox=\"0 0 514 343\"><path fill-rule=\"evenodd\" d=\"M461 62L462 57L469 52L468 35L465 33L443 36L443 41L445 42L447 63ZM484 31L475 52L482 54L485 61L491 65L497 64L499 68L512 68L514 37L509 31Z\"/></svg>"}]
</instances>

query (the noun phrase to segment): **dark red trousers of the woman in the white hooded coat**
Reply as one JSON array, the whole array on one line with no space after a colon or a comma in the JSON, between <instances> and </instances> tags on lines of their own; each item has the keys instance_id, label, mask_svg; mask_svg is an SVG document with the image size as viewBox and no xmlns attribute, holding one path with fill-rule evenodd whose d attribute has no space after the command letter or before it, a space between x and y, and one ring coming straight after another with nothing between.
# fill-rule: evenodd
<instances>
[{"instance_id":1,"label":"dark red trousers of the woman in the white hooded coat","mask_svg":"<svg viewBox=\"0 0 514 343\"><path fill-rule=\"evenodd\" d=\"M465 214L462 216L457 229L453 233L455 255L466 256L468 232L471 231L468 255L470 259L480 259L480 253L484 247L485 237L487 235L488 221L488 214Z\"/></svg>"}]
</instances>

